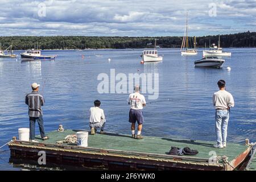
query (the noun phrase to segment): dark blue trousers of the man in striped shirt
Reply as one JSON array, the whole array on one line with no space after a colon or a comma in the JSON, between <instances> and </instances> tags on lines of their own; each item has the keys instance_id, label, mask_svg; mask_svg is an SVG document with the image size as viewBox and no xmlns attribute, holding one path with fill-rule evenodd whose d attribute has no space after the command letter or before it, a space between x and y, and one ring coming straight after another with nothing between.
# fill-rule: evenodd
<instances>
[{"instance_id":1,"label":"dark blue trousers of the man in striped shirt","mask_svg":"<svg viewBox=\"0 0 256 182\"><path fill-rule=\"evenodd\" d=\"M35 121L38 121L41 138L46 137L44 133L44 119L43 117L30 117L30 139L35 139Z\"/></svg>"}]
</instances>

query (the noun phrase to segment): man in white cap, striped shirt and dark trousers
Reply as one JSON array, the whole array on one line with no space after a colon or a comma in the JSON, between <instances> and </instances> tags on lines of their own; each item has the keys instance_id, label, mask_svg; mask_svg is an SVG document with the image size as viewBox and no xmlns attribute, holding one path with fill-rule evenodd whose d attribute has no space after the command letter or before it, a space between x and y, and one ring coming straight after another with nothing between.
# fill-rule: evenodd
<instances>
[{"instance_id":1,"label":"man in white cap, striped shirt and dark trousers","mask_svg":"<svg viewBox=\"0 0 256 182\"><path fill-rule=\"evenodd\" d=\"M26 96L26 104L28 105L28 115L30 117L30 140L38 142L35 139L35 121L38 121L41 138L43 140L49 139L44 133L43 110L44 97L38 93L39 84L33 83L31 85L32 92Z\"/></svg>"}]
</instances>

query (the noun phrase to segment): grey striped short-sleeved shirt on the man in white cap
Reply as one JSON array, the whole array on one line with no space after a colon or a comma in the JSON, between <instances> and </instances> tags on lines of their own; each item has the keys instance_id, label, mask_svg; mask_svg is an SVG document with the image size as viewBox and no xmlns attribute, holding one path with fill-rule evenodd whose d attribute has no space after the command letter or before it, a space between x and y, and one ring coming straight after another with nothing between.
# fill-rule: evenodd
<instances>
[{"instance_id":1,"label":"grey striped short-sleeved shirt on the man in white cap","mask_svg":"<svg viewBox=\"0 0 256 182\"><path fill-rule=\"evenodd\" d=\"M26 96L26 104L28 105L29 117L41 117L43 115L42 107L44 105L44 97L38 92L32 91Z\"/></svg>"}]
</instances>

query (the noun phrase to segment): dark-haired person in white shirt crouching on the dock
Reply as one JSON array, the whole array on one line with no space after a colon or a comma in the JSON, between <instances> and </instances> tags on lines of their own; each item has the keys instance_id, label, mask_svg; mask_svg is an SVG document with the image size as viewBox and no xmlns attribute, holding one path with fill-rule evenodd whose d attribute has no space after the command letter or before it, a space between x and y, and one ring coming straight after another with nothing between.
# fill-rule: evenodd
<instances>
[{"instance_id":1,"label":"dark-haired person in white shirt crouching on the dock","mask_svg":"<svg viewBox=\"0 0 256 182\"><path fill-rule=\"evenodd\" d=\"M104 110L100 108L101 101L94 101L94 107L90 107L90 134L94 135L97 128L100 128L100 134L106 134L104 126L106 123Z\"/></svg>"}]
</instances>

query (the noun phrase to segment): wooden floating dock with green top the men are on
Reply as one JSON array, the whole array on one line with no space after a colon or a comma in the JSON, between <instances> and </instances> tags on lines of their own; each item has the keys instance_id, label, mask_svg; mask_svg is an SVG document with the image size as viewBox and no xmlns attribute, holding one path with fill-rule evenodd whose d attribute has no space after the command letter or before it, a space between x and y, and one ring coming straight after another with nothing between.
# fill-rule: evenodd
<instances>
[{"instance_id":1,"label":"wooden floating dock with green top the men are on","mask_svg":"<svg viewBox=\"0 0 256 182\"><path fill-rule=\"evenodd\" d=\"M67 135L77 130L64 132L52 131L47 134L49 140L40 143L12 140L9 143L10 161L35 160L39 151L46 152L47 163L70 166L89 166L106 169L157 169L157 170L239 170L249 158L251 146L227 143L226 148L214 148L214 142L183 140L160 137L133 139L130 135L96 134L89 135L88 147L76 144L57 144ZM167 155L171 146L196 149L195 156ZM216 162L209 163L209 158L216 152Z\"/></svg>"}]
</instances>

